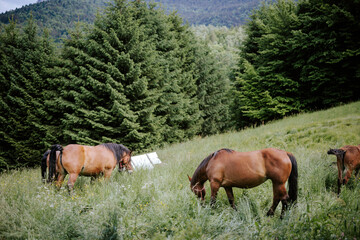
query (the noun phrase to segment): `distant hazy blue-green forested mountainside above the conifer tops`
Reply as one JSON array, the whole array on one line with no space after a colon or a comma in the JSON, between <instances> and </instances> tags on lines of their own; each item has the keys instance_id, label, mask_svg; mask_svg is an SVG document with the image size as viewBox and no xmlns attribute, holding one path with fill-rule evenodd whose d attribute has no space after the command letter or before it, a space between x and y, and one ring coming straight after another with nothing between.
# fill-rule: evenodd
<instances>
[{"instance_id":1,"label":"distant hazy blue-green forested mountainside above the conifer tops","mask_svg":"<svg viewBox=\"0 0 360 240\"><path fill-rule=\"evenodd\" d=\"M260 0L145 0L158 3L167 14L176 11L189 25L233 27L244 24ZM1 23L16 20L24 25L29 13L40 29L48 28L50 35L60 42L69 36L77 22L92 24L97 14L102 14L109 0L45 0L0 14Z\"/></svg>"}]
</instances>

